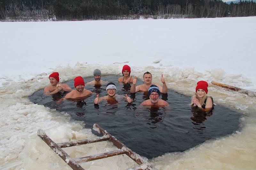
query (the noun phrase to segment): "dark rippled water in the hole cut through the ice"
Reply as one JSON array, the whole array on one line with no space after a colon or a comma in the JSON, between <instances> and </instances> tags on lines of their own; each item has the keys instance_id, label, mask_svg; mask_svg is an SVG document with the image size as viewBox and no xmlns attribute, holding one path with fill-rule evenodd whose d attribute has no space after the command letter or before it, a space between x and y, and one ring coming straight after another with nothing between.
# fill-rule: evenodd
<instances>
[{"instance_id":1,"label":"dark rippled water in the hole cut through the ice","mask_svg":"<svg viewBox=\"0 0 256 170\"><path fill-rule=\"evenodd\" d=\"M89 82L93 79L88 77L84 80ZM103 100L99 106L95 106L93 101L96 93L105 96L106 85L85 87L94 93L80 102L64 100L58 104L56 100L66 93L45 97L43 90L29 98L34 103L69 113L73 119L84 121L86 128L92 129L94 123L99 124L134 152L149 159L165 152L185 151L205 140L225 136L239 128L238 119L241 115L224 106L215 106L211 113L206 114L190 108L190 96L168 90L168 96L159 97L169 103L168 108L144 107L140 103L148 99L148 93L131 95L130 87L118 83L118 77L114 75L102 76L101 79L115 82L116 94L128 94L133 102L128 104L121 98L114 102ZM73 80L66 83L74 89ZM143 82L137 81L137 84Z\"/></svg>"}]
</instances>

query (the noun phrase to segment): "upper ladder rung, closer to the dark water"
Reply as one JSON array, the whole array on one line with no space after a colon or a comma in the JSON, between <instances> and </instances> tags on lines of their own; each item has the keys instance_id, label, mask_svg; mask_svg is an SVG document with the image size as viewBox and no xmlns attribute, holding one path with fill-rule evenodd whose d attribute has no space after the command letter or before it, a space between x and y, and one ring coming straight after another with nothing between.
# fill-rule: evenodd
<instances>
[{"instance_id":1,"label":"upper ladder rung, closer to the dark water","mask_svg":"<svg viewBox=\"0 0 256 170\"><path fill-rule=\"evenodd\" d=\"M57 145L60 148L70 147L70 146L77 146L77 145L84 145L84 144L90 144L95 142L102 142L109 140L110 137L108 135L102 136L102 137L96 137L92 139L84 139L84 140L78 140L78 141L72 141L72 142L64 142L64 143L58 143Z\"/></svg>"}]
</instances>

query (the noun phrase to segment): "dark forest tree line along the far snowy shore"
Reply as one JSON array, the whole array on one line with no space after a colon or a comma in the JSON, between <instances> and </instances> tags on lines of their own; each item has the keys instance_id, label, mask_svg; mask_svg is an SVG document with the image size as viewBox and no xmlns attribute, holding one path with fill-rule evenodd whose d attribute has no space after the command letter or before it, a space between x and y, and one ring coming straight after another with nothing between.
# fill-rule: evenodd
<instances>
[{"instance_id":1,"label":"dark forest tree line along the far snowy shore","mask_svg":"<svg viewBox=\"0 0 256 170\"><path fill-rule=\"evenodd\" d=\"M1 21L256 16L256 3L221 0L0 0Z\"/></svg>"}]
</instances>

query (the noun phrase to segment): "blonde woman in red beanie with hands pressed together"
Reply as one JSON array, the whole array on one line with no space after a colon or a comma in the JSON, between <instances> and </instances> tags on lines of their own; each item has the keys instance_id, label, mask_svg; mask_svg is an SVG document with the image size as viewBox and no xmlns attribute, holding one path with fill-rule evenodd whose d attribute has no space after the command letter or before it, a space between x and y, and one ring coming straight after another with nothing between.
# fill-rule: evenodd
<instances>
[{"instance_id":1,"label":"blonde woman in red beanie with hands pressed together","mask_svg":"<svg viewBox=\"0 0 256 170\"><path fill-rule=\"evenodd\" d=\"M196 86L195 96L192 97L191 107L198 107L199 109L209 112L213 109L213 99L208 96L208 83L206 81L198 81Z\"/></svg>"}]
</instances>

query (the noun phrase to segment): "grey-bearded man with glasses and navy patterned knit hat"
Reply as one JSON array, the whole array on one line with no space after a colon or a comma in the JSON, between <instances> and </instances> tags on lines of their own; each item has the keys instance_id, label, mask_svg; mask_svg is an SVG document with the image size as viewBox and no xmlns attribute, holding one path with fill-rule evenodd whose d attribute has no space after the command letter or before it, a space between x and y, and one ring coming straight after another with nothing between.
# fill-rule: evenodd
<instances>
[{"instance_id":1,"label":"grey-bearded man with glasses and navy patterned knit hat","mask_svg":"<svg viewBox=\"0 0 256 170\"><path fill-rule=\"evenodd\" d=\"M160 90L156 85L151 85L148 89L149 99L141 103L142 106L168 106L169 104L159 99Z\"/></svg>"}]
</instances>

